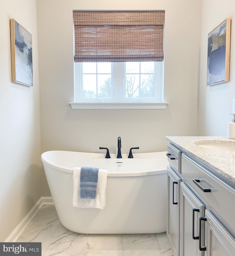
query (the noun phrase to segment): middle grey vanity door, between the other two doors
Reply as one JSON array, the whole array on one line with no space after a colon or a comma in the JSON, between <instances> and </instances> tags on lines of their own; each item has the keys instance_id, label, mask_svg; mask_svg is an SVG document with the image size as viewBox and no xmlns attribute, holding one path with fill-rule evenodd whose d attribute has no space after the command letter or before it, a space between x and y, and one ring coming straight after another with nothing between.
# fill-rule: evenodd
<instances>
[{"instance_id":1,"label":"middle grey vanity door, between the other two doors","mask_svg":"<svg viewBox=\"0 0 235 256\"><path fill-rule=\"evenodd\" d=\"M180 194L180 256L204 256L199 250L199 217L205 216L205 206L184 182L180 183Z\"/></svg>"}]
</instances>

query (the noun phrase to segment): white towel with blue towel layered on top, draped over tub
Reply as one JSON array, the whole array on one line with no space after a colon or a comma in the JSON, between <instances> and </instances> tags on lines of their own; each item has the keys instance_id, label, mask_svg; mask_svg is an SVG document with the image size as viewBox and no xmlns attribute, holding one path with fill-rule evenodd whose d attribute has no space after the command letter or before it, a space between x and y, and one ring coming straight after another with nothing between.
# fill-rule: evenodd
<instances>
[{"instance_id":1,"label":"white towel with blue towel layered on top, draped over tub","mask_svg":"<svg viewBox=\"0 0 235 256\"><path fill-rule=\"evenodd\" d=\"M106 203L107 170L95 167L73 169L73 207L100 208Z\"/></svg>"}]
</instances>

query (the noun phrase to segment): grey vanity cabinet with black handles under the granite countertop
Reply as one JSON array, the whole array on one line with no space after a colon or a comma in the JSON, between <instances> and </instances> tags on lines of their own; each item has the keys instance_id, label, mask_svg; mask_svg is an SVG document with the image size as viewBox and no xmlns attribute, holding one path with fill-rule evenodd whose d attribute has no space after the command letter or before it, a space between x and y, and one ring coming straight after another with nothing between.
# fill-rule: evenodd
<instances>
[{"instance_id":1,"label":"grey vanity cabinet with black handles under the granite countertop","mask_svg":"<svg viewBox=\"0 0 235 256\"><path fill-rule=\"evenodd\" d=\"M170 158L167 166L167 236L174 255L235 256L235 186L184 150L178 156L180 171Z\"/></svg>"}]
</instances>

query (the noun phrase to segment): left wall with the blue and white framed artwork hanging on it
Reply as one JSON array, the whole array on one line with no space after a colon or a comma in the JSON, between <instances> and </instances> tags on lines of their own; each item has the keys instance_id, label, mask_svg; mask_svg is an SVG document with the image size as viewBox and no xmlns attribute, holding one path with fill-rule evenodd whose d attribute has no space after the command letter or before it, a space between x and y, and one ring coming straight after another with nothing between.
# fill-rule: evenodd
<instances>
[{"instance_id":1,"label":"left wall with the blue and white framed artwork hanging on it","mask_svg":"<svg viewBox=\"0 0 235 256\"><path fill-rule=\"evenodd\" d=\"M32 34L33 88L11 82L10 18ZM36 0L0 0L0 241L42 196Z\"/></svg>"}]
</instances>

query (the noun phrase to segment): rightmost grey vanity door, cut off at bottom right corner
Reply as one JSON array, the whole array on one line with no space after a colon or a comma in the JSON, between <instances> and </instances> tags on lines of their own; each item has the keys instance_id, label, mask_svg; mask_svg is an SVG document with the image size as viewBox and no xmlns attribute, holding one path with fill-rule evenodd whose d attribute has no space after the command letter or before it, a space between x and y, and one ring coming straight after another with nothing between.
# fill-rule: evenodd
<instances>
[{"instance_id":1,"label":"rightmost grey vanity door, cut off at bottom right corner","mask_svg":"<svg viewBox=\"0 0 235 256\"><path fill-rule=\"evenodd\" d=\"M205 256L235 255L235 239L217 218L206 210L202 220L205 220Z\"/></svg>"}]
</instances>

